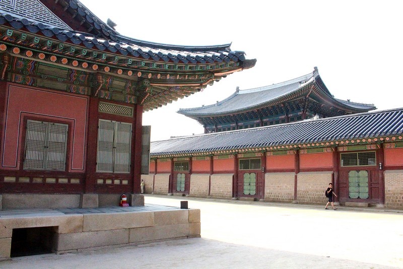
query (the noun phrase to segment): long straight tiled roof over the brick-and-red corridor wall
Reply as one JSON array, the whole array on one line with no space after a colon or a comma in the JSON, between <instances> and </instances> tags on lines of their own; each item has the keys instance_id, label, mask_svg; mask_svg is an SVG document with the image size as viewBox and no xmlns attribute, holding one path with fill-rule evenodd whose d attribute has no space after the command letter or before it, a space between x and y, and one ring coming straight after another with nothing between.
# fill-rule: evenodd
<instances>
[{"instance_id":1,"label":"long straight tiled roof over the brick-and-red corridor wall","mask_svg":"<svg viewBox=\"0 0 403 269\"><path fill-rule=\"evenodd\" d=\"M151 143L151 156L207 154L220 150L272 146L284 146L286 149L287 145L291 148L306 143L394 135L403 135L403 109L155 141Z\"/></svg>"}]
</instances>

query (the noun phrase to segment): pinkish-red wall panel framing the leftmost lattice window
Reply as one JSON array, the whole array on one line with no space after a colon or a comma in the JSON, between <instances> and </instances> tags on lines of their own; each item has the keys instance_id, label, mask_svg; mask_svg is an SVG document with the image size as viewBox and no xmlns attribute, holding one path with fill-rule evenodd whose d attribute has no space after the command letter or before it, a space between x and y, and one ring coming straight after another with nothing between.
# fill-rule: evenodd
<instances>
[{"instance_id":1,"label":"pinkish-red wall panel framing the leftmost lattice window","mask_svg":"<svg viewBox=\"0 0 403 269\"><path fill-rule=\"evenodd\" d=\"M24 117L73 122L69 172L85 172L88 97L9 84L6 92L3 169L20 168Z\"/></svg>"}]
</instances>

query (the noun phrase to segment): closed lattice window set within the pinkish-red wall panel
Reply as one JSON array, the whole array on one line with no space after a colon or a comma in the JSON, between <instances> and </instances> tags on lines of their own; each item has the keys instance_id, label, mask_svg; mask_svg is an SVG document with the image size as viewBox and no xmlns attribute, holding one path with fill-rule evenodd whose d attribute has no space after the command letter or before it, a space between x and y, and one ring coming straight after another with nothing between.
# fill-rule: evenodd
<instances>
[{"instance_id":1,"label":"closed lattice window set within the pinkish-red wall panel","mask_svg":"<svg viewBox=\"0 0 403 269\"><path fill-rule=\"evenodd\" d=\"M64 171L69 126L27 121L24 169Z\"/></svg>"}]
</instances>

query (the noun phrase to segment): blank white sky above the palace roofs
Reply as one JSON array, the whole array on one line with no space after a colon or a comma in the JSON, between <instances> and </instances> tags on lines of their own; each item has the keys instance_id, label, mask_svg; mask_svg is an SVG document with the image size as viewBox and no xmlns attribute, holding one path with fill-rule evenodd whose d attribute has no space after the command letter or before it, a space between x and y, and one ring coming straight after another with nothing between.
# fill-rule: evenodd
<instances>
[{"instance_id":1,"label":"blank white sky above the palace roofs","mask_svg":"<svg viewBox=\"0 0 403 269\"><path fill-rule=\"evenodd\" d=\"M151 141L203 133L179 108L221 101L242 89L319 74L336 98L403 107L402 1L80 0L132 38L175 45L231 43L257 59L203 92L143 114Z\"/></svg>"}]
</instances>

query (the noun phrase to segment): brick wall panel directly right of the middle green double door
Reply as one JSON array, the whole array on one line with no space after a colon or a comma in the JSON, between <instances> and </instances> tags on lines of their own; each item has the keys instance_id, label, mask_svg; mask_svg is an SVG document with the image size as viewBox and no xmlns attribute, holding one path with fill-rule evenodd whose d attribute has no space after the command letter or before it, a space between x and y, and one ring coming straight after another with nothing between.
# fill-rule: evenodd
<instances>
[{"instance_id":1,"label":"brick wall panel directly right of the middle green double door","mask_svg":"<svg viewBox=\"0 0 403 269\"><path fill-rule=\"evenodd\" d=\"M294 178L294 173L266 173L264 175L264 200L294 201Z\"/></svg>"}]
</instances>

